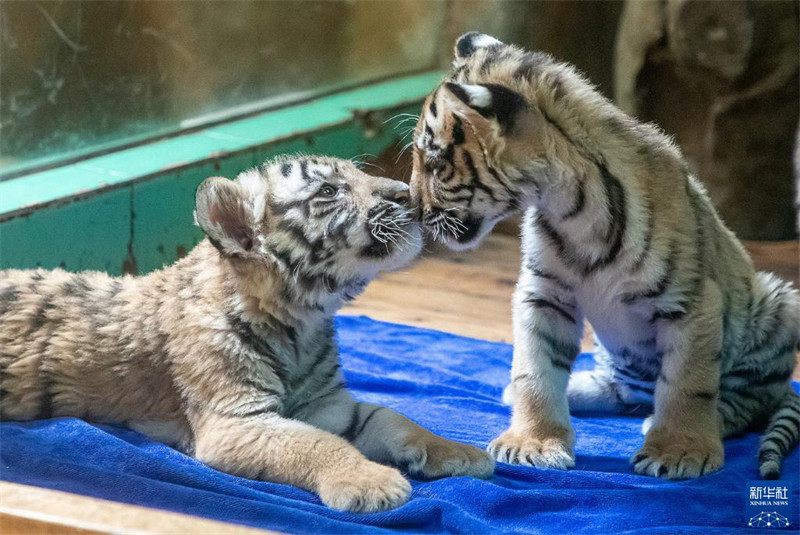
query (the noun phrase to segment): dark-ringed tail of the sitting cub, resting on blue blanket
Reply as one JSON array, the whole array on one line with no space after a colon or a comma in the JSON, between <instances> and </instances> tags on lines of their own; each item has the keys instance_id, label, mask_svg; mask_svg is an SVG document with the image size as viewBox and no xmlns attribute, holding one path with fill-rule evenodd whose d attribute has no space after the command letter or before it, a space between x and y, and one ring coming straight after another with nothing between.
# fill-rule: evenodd
<instances>
[{"instance_id":1,"label":"dark-ringed tail of the sitting cub, resting on blue blanket","mask_svg":"<svg viewBox=\"0 0 800 535\"><path fill-rule=\"evenodd\" d=\"M763 479L778 479L781 463L800 438L800 395L793 390L778 404L761 437L758 465Z\"/></svg>"}]
</instances>

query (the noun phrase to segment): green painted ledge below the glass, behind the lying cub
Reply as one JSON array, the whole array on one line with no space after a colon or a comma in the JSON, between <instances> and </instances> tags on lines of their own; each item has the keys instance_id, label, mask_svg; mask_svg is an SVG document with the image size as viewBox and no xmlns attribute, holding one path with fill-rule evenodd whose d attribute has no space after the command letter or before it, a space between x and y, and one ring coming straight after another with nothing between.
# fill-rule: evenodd
<instances>
[{"instance_id":1,"label":"green painted ledge below the glass, behind the lying cub","mask_svg":"<svg viewBox=\"0 0 800 535\"><path fill-rule=\"evenodd\" d=\"M194 191L277 154L374 154L442 79L396 78L0 182L0 269L145 273L200 239Z\"/></svg>"}]
</instances>

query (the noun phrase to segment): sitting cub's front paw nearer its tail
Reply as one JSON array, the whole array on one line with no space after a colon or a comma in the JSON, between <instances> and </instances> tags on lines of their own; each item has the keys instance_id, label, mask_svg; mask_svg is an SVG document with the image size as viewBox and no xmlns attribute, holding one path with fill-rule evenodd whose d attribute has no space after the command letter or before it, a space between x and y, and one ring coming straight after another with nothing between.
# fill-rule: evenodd
<instances>
[{"instance_id":1,"label":"sitting cub's front paw nearer its tail","mask_svg":"<svg viewBox=\"0 0 800 535\"><path fill-rule=\"evenodd\" d=\"M722 439L700 433L670 433L653 428L631 458L637 474L687 479L715 472L724 464Z\"/></svg>"}]
</instances>

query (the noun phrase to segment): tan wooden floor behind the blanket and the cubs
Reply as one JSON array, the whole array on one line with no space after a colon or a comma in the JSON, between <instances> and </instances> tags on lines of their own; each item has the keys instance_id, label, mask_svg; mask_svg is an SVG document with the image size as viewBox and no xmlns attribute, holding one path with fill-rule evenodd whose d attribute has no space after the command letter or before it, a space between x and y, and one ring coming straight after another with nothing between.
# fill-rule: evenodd
<instances>
[{"instance_id":1,"label":"tan wooden floor behind the blanket and the cubs","mask_svg":"<svg viewBox=\"0 0 800 535\"><path fill-rule=\"evenodd\" d=\"M800 287L796 241L745 246L757 269L772 271ZM436 248L410 268L373 282L342 313L510 343L511 294L519 264L519 240L504 234L489 236L474 251ZM587 325L582 349L591 348ZM800 365L794 377L800 380Z\"/></svg>"}]
</instances>

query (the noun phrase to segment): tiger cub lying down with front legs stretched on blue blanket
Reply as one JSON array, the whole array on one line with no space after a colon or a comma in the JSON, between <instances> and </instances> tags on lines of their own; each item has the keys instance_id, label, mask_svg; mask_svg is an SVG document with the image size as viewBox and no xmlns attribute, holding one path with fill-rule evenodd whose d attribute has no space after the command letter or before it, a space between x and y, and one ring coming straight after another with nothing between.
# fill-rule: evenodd
<instances>
[{"instance_id":1,"label":"tiger cub lying down with front legs stretched on blue blanket","mask_svg":"<svg viewBox=\"0 0 800 535\"><path fill-rule=\"evenodd\" d=\"M408 186L283 157L197 190L208 240L142 277L0 272L0 416L125 424L225 472L380 511L489 455L345 388L333 316L420 250Z\"/></svg>"}]
</instances>

